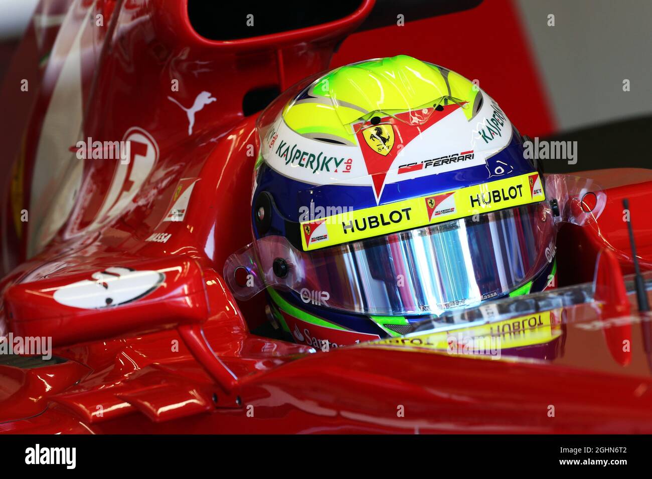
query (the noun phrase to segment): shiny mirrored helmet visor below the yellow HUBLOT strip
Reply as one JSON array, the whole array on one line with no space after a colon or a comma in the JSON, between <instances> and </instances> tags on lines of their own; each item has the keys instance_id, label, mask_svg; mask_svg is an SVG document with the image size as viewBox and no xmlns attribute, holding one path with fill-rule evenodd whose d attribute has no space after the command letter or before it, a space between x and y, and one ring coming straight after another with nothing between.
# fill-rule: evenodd
<instances>
[{"instance_id":1,"label":"shiny mirrored helmet visor below the yellow HUBLOT strip","mask_svg":"<svg viewBox=\"0 0 652 479\"><path fill-rule=\"evenodd\" d=\"M240 299L272 286L351 313L439 314L531 280L554 240L550 208L533 203L311 252L267 237L232 255L224 277Z\"/></svg>"}]
</instances>

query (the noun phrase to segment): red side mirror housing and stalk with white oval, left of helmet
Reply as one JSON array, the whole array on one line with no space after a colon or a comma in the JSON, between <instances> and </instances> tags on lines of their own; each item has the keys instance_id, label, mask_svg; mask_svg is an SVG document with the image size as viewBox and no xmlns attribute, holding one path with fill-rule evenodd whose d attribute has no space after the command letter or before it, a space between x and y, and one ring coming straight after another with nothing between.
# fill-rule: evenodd
<instances>
[{"instance_id":1,"label":"red side mirror housing and stalk with white oval, left of helmet","mask_svg":"<svg viewBox=\"0 0 652 479\"><path fill-rule=\"evenodd\" d=\"M172 256L16 284L5 293L8 325L23 337L50 337L55 347L177 328L230 401L237 379L203 335L211 315L203 273L194 259Z\"/></svg>"}]
</instances>

